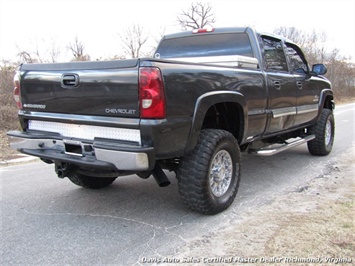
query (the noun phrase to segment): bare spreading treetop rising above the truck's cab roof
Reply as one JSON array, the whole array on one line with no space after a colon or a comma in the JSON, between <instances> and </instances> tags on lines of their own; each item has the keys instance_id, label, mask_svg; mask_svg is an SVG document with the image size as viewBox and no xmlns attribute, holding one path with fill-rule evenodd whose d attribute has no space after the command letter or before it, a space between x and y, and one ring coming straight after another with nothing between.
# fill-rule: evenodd
<instances>
[{"instance_id":1,"label":"bare spreading treetop rising above the truck's cab roof","mask_svg":"<svg viewBox=\"0 0 355 266\"><path fill-rule=\"evenodd\" d=\"M216 22L216 18L210 3L196 2L192 3L188 10L183 10L177 16L177 21L183 30L189 30L212 26Z\"/></svg>"}]
</instances>

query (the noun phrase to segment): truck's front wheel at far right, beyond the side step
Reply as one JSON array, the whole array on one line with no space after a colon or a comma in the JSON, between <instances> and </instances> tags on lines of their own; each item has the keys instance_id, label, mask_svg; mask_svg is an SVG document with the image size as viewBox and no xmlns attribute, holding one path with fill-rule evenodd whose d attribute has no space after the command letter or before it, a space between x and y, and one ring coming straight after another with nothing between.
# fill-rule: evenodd
<instances>
[{"instance_id":1,"label":"truck's front wheel at far right, beyond the side step","mask_svg":"<svg viewBox=\"0 0 355 266\"><path fill-rule=\"evenodd\" d=\"M332 110L323 109L317 123L309 129L316 138L307 143L308 151L312 155L328 155L334 143L335 122Z\"/></svg>"}]
</instances>

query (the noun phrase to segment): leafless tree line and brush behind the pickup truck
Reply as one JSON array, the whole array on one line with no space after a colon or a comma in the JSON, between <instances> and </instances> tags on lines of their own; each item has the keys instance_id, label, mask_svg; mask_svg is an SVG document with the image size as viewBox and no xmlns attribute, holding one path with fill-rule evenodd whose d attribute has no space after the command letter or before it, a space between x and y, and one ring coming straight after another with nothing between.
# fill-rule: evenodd
<instances>
[{"instance_id":1,"label":"leafless tree line and brush behind the pickup truck","mask_svg":"<svg viewBox=\"0 0 355 266\"><path fill-rule=\"evenodd\" d=\"M182 30L191 30L213 26L216 17L209 3L192 3L187 9L182 10L176 17L177 23ZM327 36L323 32L304 32L294 27L279 27L274 30L275 34L282 35L297 43L304 51L309 64L324 63L328 68L326 77L333 84L337 100L355 97L355 64L350 58L340 54L338 49L327 51ZM126 58L149 57L154 47L147 48L148 40L153 38L155 46L164 35L164 30L157 36L151 37L143 26L134 24L118 34L122 54L117 54L100 60L117 60ZM42 45L43 46L43 45ZM19 62L24 63L55 63L60 58L62 49L53 38L45 40L45 49L41 49L37 42L32 50L18 48L18 62L2 61L0 65L0 123L4 129L13 128L16 119L16 106L12 100L13 75ZM85 44L78 36L67 44L67 51L72 55L71 61L92 60L86 52Z\"/></svg>"}]
</instances>

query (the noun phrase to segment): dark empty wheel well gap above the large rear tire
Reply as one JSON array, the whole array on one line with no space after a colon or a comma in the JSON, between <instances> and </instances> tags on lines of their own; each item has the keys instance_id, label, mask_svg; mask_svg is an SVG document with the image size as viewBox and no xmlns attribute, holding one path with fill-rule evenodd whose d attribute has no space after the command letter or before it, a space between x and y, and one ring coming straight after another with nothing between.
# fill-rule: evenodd
<instances>
[{"instance_id":1,"label":"dark empty wheel well gap above the large rear tire","mask_svg":"<svg viewBox=\"0 0 355 266\"><path fill-rule=\"evenodd\" d=\"M202 124L202 129L206 128L229 131L240 143L244 128L242 107L233 102L217 103L211 106Z\"/></svg>"}]
</instances>

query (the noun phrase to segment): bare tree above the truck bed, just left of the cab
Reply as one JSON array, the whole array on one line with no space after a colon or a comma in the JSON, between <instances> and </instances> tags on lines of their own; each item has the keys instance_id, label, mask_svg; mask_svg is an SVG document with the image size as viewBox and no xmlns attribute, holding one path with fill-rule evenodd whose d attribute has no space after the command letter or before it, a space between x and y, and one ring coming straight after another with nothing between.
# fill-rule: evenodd
<instances>
[{"instance_id":1,"label":"bare tree above the truck bed, just left of the cab","mask_svg":"<svg viewBox=\"0 0 355 266\"><path fill-rule=\"evenodd\" d=\"M144 33L143 27L137 24L127 28L123 34L118 34L123 44L123 49L131 58L138 58L142 46L147 42L148 35Z\"/></svg>"}]
</instances>

